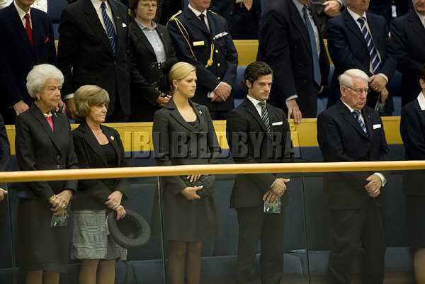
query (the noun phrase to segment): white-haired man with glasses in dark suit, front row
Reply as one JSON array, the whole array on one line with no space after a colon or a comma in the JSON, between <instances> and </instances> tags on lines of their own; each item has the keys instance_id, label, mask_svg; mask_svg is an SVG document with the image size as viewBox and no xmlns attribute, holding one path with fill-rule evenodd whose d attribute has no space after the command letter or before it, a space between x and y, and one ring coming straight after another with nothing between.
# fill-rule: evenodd
<instances>
[{"instance_id":1,"label":"white-haired man with glasses in dark suit, front row","mask_svg":"<svg viewBox=\"0 0 425 284\"><path fill-rule=\"evenodd\" d=\"M349 69L339 77L341 98L317 118L317 141L324 161L380 161L388 145L380 115L366 104L369 76ZM329 174L324 178L330 210L329 284L351 283L358 245L363 283L383 283L385 210L380 173Z\"/></svg>"}]
</instances>

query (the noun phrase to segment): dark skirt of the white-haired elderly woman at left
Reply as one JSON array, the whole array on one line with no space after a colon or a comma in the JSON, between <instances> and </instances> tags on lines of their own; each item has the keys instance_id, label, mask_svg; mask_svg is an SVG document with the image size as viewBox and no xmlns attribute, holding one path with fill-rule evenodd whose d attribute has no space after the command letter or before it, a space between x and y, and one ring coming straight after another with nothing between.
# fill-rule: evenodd
<instances>
[{"instance_id":1,"label":"dark skirt of the white-haired elderly woman at left","mask_svg":"<svg viewBox=\"0 0 425 284\"><path fill-rule=\"evenodd\" d=\"M47 202L19 201L17 251L23 271L67 271L69 225L51 227L51 219Z\"/></svg>"}]
</instances>

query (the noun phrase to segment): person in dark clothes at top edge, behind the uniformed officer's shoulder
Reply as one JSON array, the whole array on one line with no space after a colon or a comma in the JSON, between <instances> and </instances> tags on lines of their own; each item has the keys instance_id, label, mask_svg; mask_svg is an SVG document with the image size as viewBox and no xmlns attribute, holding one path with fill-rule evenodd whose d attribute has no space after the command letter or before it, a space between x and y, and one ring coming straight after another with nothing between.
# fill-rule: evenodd
<instances>
[{"instance_id":1,"label":"person in dark clothes at top edge, behind the uniformed officer's shoulder","mask_svg":"<svg viewBox=\"0 0 425 284\"><path fill-rule=\"evenodd\" d=\"M258 38L260 0L212 0L210 8L227 20L234 40Z\"/></svg>"}]
</instances>

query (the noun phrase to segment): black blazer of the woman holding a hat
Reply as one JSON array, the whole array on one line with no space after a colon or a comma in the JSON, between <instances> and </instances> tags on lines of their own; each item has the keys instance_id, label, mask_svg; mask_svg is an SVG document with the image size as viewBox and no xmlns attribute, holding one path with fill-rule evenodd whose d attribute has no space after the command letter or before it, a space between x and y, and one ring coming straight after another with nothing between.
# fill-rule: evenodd
<instances>
[{"instance_id":1,"label":"black blazer of the woman holding a hat","mask_svg":"<svg viewBox=\"0 0 425 284\"><path fill-rule=\"evenodd\" d=\"M105 125L101 125L101 129L117 154L117 167L128 166L128 162L125 160L123 142L118 131ZM80 169L111 167L108 166L101 145L86 122L81 123L77 129L73 130L72 135ZM107 208L105 202L113 191L123 192L124 199L129 189L130 181L128 178L116 178L114 188L103 183L101 179L84 179L78 183L79 192L77 193L77 198L73 200L72 206L74 209L79 210L102 210Z\"/></svg>"}]
</instances>

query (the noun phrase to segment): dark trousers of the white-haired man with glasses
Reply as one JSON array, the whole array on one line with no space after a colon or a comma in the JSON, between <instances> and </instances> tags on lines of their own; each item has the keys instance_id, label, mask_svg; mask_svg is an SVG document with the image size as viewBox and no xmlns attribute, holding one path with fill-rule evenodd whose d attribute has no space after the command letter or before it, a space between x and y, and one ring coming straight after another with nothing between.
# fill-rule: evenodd
<instances>
[{"instance_id":1,"label":"dark trousers of the white-haired man with glasses","mask_svg":"<svg viewBox=\"0 0 425 284\"><path fill-rule=\"evenodd\" d=\"M363 246L363 284L382 284L385 270L385 210L372 198L360 209L330 211L329 284L351 283L351 263Z\"/></svg>"}]
</instances>

